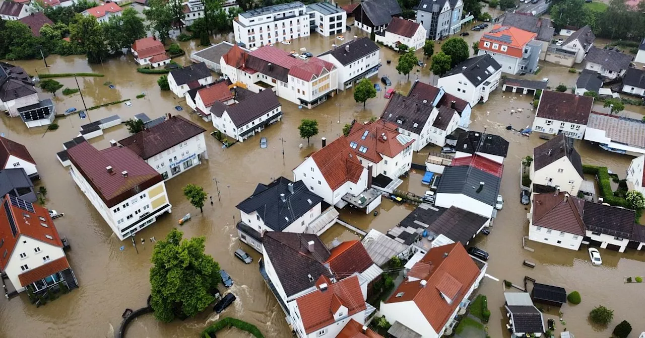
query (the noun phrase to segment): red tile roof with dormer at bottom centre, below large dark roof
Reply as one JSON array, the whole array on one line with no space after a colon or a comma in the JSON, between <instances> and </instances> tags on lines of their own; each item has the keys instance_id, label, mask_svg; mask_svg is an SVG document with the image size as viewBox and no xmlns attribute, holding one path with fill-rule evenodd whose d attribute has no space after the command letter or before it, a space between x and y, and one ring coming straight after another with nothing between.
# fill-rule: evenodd
<instances>
[{"instance_id":1,"label":"red tile roof with dormer at bottom centre, below large dark roof","mask_svg":"<svg viewBox=\"0 0 645 338\"><path fill-rule=\"evenodd\" d=\"M339 305L348 309L348 316L366 309L361 285L357 276L342 279L327 286L326 290L316 290L296 300L303 320L304 331L309 334L335 323L333 315ZM333 310L335 308L335 310Z\"/></svg>"}]
</instances>

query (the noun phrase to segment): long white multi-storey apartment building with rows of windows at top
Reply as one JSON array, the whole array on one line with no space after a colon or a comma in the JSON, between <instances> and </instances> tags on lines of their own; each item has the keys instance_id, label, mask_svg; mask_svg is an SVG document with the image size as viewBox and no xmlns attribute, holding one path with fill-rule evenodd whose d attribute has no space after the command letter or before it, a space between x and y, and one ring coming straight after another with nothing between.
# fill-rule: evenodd
<instances>
[{"instance_id":1,"label":"long white multi-storey apartment building with rows of windows at top","mask_svg":"<svg viewBox=\"0 0 645 338\"><path fill-rule=\"evenodd\" d=\"M306 6L296 1L265 6L233 19L235 42L253 50L282 41L309 36L310 17Z\"/></svg>"}]
</instances>

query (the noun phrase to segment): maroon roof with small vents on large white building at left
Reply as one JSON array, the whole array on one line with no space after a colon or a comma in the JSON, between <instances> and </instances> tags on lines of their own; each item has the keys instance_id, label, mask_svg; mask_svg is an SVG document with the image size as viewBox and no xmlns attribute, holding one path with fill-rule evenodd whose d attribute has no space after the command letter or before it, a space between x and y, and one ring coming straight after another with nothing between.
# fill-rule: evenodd
<instances>
[{"instance_id":1,"label":"maroon roof with small vents on large white building at left","mask_svg":"<svg viewBox=\"0 0 645 338\"><path fill-rule=\"evenodd\" d=\"M161 174L128 147L109 147L101 151L88 142L67 149L72 165L83 175L108 207L162 182ZM112 167L108 173L106 167ZM121 174L127 171L127 177Z\"/></svg>"}]
</instances>

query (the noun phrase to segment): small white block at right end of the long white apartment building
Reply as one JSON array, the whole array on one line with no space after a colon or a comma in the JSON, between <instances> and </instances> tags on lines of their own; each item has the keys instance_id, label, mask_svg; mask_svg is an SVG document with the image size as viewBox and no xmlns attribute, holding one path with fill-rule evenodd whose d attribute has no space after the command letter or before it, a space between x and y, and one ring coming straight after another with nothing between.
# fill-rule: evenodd
<instances>
[{"instance_id":1,"label":"small white block at right end of the long white apartment building","mask_svg":"<svg viewBox=\"0 0 645 338\"><path fill-rule=\"evenodd\" d=\"M321 3L312 3L307 5L307 14L309 14L309 25L317 33L323 36L337 35L345 32L347 27L347 12L331 1Z\"/></svg>"}]
</instances>

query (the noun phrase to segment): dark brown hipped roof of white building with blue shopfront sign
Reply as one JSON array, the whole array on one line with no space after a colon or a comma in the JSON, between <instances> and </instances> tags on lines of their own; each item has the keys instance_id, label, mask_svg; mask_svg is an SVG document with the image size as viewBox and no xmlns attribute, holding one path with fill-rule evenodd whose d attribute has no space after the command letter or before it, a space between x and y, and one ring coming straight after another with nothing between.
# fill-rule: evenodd
<instances>
[{"instance_id":1,"label":"dark brown hipped roof of white building with blue shopfront sign","mask_svg":"<svg viewBox=\"0 0 645 338\"><path fill-rule=\"evenodd\" d=\"M204 131L206 129L203 127L197 126L197 124L186 120L186 118L175 115L150 129L128 136L120 140L119 143L147 160L166 149L204 133Z\"/></svg>"}]
</instances>

